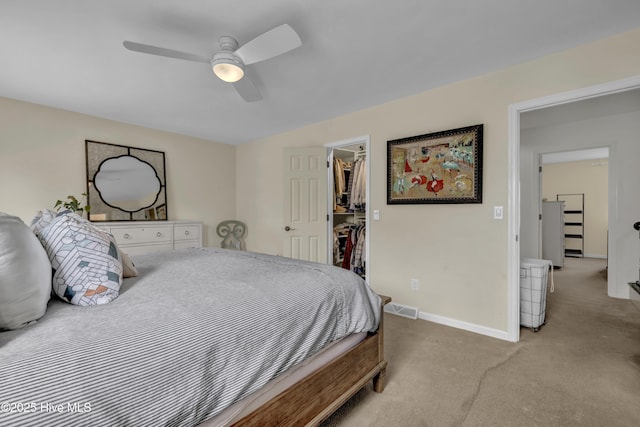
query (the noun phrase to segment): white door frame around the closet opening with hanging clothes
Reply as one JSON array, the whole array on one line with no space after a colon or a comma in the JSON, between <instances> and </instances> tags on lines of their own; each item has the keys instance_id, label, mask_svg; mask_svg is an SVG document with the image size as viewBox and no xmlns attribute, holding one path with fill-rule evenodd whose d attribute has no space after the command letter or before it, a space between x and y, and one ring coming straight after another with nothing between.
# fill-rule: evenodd
<instances>
[{"instance_id":1,"label":"white door frame around the closet opening with hanging clothes","mask_svg":"<svg viewBox=\"0 0 640 427\"><path fill-rule=\"evenodd\" d=\"M331 185L333 184L333 149L347 147L350 145L365 146L365 165L367 168L365 176L367 181L367 196L365 198L364 218L365 223L367 224L367 232L365 233L364 237L364 251L366 260L364 270L365 277L367 278L367 283L371 283L371 272L369 268L369 248L371 246L369 244L369 242L371 241L369 237L369 235L371 234L371 227L369 226L371 221L371 218L369 216L371 206L371 137L369 135L361 135L349 139L342 139L339 141L329 142L324 145L327 148L327 182L329 183L329 185L327 185L327 262L329 264L333 264L331 261L333 259L333 186Z\"/></svg>"}]
</instances>

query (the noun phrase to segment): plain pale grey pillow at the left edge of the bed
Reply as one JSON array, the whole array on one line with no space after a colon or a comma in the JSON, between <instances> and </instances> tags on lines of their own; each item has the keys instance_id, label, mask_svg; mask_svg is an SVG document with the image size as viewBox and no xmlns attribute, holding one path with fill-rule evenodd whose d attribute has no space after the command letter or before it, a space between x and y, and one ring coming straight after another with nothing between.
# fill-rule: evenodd
<instances>
[{"instance_id":1,"label":"plain pale grey pillow at the left edge of the bed","mask_svg":"<svg viewBox=\"0 0 640 427\"><path fill-rule=\"evenodd\" d=\"M51 263L36 236L16 216L0 212L0 330L42 317L51 295Z\"/></svg>"}]
</instances>

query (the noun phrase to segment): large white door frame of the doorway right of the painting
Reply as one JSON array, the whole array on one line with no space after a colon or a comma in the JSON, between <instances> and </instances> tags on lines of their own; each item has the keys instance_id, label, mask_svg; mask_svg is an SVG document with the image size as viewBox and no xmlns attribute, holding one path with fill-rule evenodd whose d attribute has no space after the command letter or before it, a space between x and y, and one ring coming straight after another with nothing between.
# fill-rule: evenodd
<instances>
[{"instance_id":1,"label":"large white door frame of the doorway right of the painting","mask_svg":"<svg viewBox=\"0 0 640 427\"><path fill-rule=\"evenodd\" d=\"M615 80L600 85L589 86L573 91L562 92L529 101L510 104L508 108L509 140L507 147L508 156L508 217L507 230L507 340L518 342L520 340L520 114L570 102L581 101L603 95L611 95L640 88L640 76ZM611 155L611 149L609 154ZM611 175L609 175L611 184ZM615 218L616 206L613 193L609 194L609 218ZM611 224L615 225L615 224ZM612 233L609 233L611 239ZM607 242L609 256L615 256L611 242ZM609 277L609 283L615 281L615 277Z\"/></svg>"}]
</instances>

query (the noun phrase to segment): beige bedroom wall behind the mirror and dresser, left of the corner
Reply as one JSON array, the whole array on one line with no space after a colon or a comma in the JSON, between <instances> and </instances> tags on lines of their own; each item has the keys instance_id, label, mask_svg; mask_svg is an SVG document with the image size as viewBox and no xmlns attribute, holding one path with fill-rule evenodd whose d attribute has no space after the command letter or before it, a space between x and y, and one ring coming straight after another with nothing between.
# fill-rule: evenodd
<instances>
[{"instance_id":1,"label":"beige bedroom wall behind the mirror and dresser, left of the corner","mask_svg":"<svg viewBox=\"0 0 640 427\"><path fill-rule=\"evenodd\" d=\"M235 147L0 98L0 211L37 210L86 191L85 139L165 152L169 219L215 225L235 215Z\"/></svg>"}]
</instances>

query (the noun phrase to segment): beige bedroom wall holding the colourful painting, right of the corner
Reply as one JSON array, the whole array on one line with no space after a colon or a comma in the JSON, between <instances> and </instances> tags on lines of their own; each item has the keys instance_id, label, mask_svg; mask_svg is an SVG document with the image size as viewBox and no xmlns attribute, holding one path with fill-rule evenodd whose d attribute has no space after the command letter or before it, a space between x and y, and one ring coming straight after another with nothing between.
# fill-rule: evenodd
<instances>
[{"instance_id":1,"label":"beige bedroom wall holding the colourful painting, right of the corner","mask_svg":"<svg viewBox=\"0 0 640 427\"><path fill-rule=\"evenodd\" d=\"M509 195L508 106L638 75L638 46L640 30L238 147L237 214L249 224L248 245L281 253L283 147L369 134L370 208L380 210L368 226L371 286L423 317L506 331L507 221L493 220L492 207L506 207ZM387 140L478 123L483 204L386 205Z\"/></svg>"}]
</instances>

